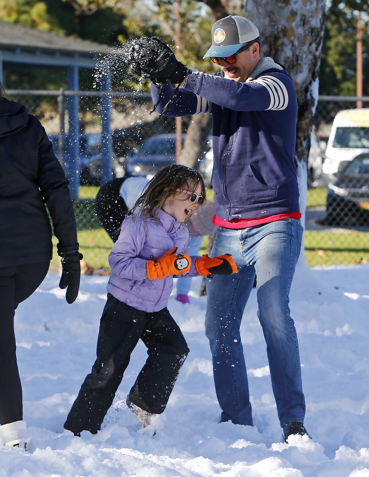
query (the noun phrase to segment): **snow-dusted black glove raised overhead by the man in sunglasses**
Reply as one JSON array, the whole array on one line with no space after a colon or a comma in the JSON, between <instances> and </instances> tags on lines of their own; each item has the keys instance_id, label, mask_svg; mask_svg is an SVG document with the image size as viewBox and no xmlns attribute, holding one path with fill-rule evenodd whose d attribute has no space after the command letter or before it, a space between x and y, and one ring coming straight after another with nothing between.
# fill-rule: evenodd
<instances>
[{"instance_id":1,"label":"snow-dusted black glove raised overhead by the man in sunglasses","mask_svg":"<svg viewBox=\"0 0 369 477\"><path fill-rule=\"evenodd\" d=\"M157 83L181 83L187 68L180 63L169 46L155 37L142 36L128 44L129 69Z\"/></svg>"}]
</instances>

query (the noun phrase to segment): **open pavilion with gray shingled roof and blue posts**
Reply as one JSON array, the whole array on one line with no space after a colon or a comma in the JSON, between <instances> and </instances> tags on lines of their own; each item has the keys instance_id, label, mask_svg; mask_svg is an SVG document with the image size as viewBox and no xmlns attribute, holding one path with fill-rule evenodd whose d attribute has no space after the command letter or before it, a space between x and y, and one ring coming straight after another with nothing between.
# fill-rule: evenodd
<instances>
[{"instance_id":1,"label":"open pavilion with gray shingled roof and blue posts","mask_svg":"<svg viewBox=\"0 0 369 477\"><path fill-rule=\"evenodd\" d=\"M101 90L111 90L111 75L108 65L104 68L102 61L111 47L93 41L82 40L59 33L41 31L18 23L0 21L0 81L4 83L4 71L11 70L15 64L19 68L38 66L47 74L47 68L60 67L66 71L68 91L79 91L79 69L96 68L103 70L101 75ZM4 84L6 88L6 84ZM102 121L102 150L105 180L109 177L112 168L112 140L110 134L109 97L101 98ZM69 179L71 181L71 194L78 196L79 180L77 178L77 161L79 149L79 95L73 94L67 98L69 114L69 134L67 154L69 157Z\"/></svg>"}]
</instances>

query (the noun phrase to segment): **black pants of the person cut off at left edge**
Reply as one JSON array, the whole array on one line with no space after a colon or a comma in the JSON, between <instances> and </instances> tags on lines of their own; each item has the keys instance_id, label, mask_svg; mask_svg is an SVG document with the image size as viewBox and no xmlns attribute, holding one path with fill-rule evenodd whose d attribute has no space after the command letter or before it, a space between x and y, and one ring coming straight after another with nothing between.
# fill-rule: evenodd
<instances>
[{"instance_id":1,"label":"black pants of the person cut off at left edge","mask_svg":"<svg viewBox=\"0 0 369 477\"><path fill-rule=\"evenodd\" d=\"M50 261L0 267L0 424L21 421L22 388L15 354L14 311L42 283Z\"/></svg>"}]
</instances>

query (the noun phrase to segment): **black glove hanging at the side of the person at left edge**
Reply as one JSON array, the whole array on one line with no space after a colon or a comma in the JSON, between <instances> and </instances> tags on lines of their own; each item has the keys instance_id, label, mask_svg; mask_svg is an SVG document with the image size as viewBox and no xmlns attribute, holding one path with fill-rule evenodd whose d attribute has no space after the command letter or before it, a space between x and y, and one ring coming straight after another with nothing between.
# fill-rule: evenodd
<instances>
[{"instance_id":1,"label":"black glove hanging at the side of the person at left edge","mask_svg":"<svg viewBox=\"0 0 369 477\"><path fill-rule=\"evenodd\" d=\"M58 250L58 255L62 257L62 278L59 282L59 288L64 290L65 300L71 304L78 296L79 282L81 279L81 264L80 260L83 259L82 253L78 250L70 250L62 252Z\"/></svg>"}]
</instances>

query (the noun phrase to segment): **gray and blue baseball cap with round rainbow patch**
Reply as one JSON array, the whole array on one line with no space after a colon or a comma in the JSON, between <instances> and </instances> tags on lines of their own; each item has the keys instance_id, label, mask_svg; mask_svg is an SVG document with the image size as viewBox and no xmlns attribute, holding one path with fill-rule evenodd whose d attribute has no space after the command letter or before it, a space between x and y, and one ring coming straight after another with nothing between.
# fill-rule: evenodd
<instances>
[{"instance_id":1,"label":"gray and blue baseball cap with round rainbow patch","mask_svg":"<svg viewBox=\"0 0 369 477\"><path fill-rule=\"evenodd\" d=\"M211 47L203 58L233 55L243 45L255 40L259 30L252 21L239 15L229 15L214 23L211 29Z\"/></svg>"}]
</instances>

